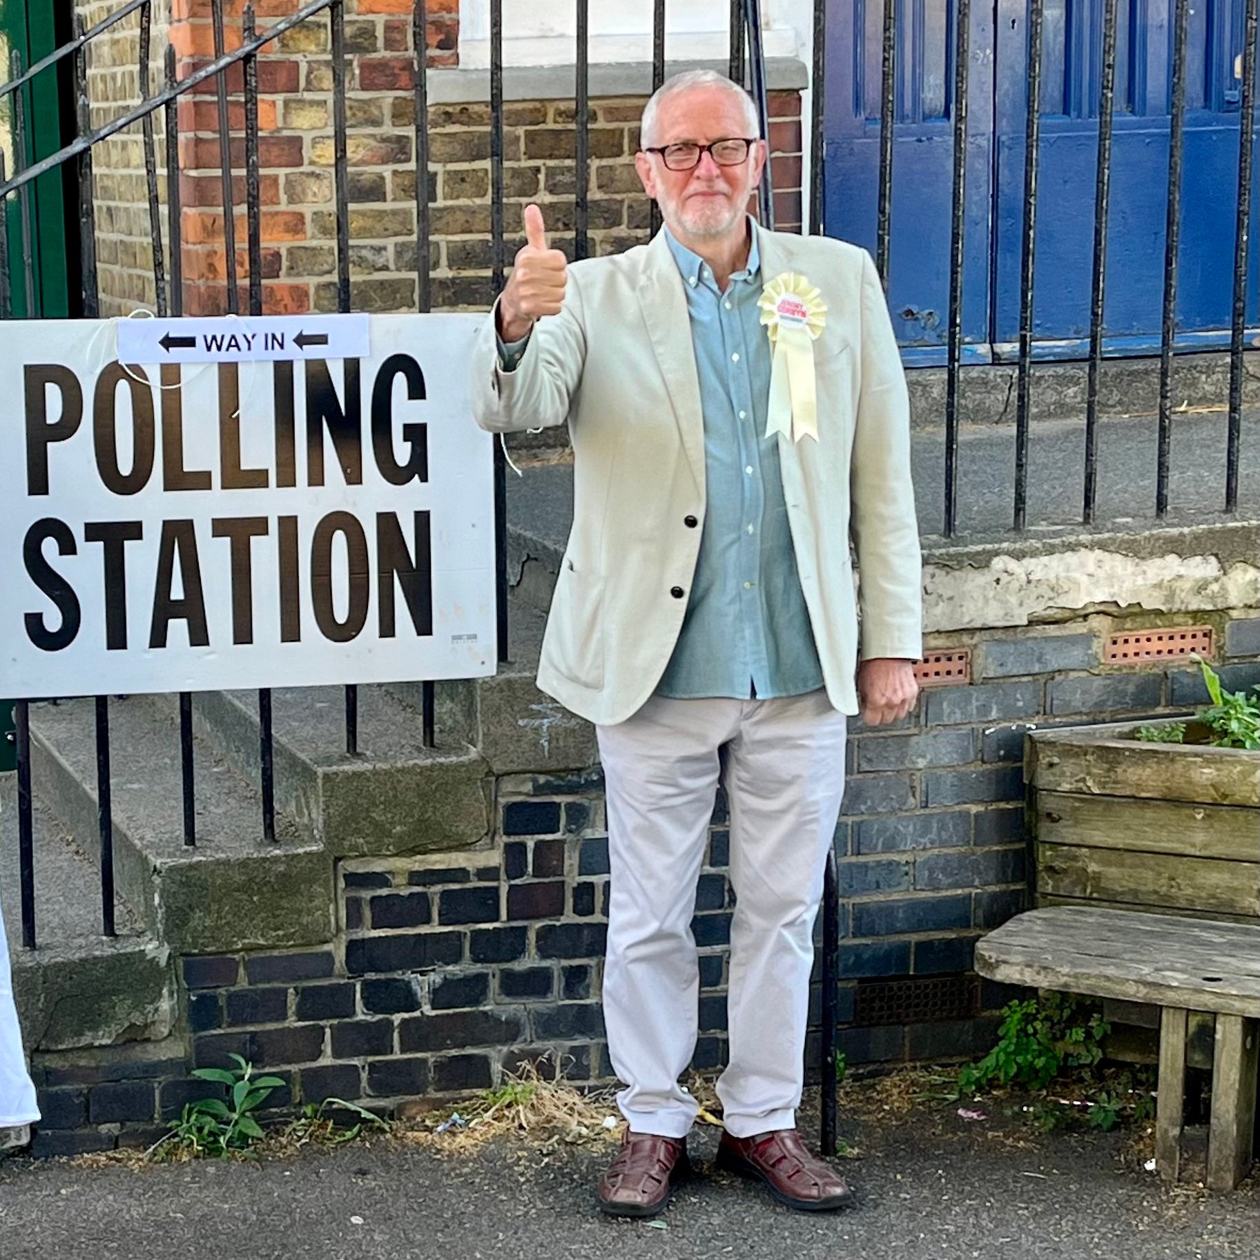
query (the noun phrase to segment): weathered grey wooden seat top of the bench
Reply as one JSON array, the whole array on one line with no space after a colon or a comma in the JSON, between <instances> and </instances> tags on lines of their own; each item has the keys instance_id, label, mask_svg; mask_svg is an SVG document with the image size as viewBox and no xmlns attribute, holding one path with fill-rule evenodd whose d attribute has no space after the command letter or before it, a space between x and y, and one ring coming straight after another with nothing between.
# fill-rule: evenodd
<instances>
[{"instance_id":1,"label":"weathered grey wooden seat top of the bench","mask_svg":"<svg viewBox=\"0 0 1260 1260\"><path fill-rule=\"evenodd\" d=\"M1033 910L978 942L975 969L1005 984L1260 1014L1260 926L1086 907Z\"/></svg>"}]
</instances>

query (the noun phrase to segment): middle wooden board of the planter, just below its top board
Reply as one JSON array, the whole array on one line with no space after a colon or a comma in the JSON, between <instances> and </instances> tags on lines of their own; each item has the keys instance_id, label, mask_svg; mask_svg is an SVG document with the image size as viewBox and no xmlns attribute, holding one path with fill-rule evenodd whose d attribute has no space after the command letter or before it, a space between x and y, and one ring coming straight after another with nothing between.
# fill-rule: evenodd
<instances>
[{"instance_id":1,"label":"middle wooden board of the planter, just below its top board","mask_svg":"<svg viewBox=\"0 0 1260 1260\"><path fill-rule=\"evenodd\" d=\"M1038 790L1037 839L1250 862L1260 882L1260 815L1235 805Z\"/></svg>"}]
</instances>

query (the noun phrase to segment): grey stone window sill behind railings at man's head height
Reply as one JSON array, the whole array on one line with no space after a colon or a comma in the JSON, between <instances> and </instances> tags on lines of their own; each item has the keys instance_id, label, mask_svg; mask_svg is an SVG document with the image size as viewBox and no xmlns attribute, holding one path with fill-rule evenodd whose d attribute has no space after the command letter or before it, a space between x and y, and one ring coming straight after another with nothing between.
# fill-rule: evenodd
<instances>
[{"instance_id":1,"label":"grey stone window sill behind railings at man's head height","mask_svg":"<svg viewBox=\"0 0 1260 1260\"><path fill-rule=\"evenodd\" d=\"M667 62L665 78L682 71L727 72L724 60ZM503 71L504 101L570 101L577 92L577 72L570 66L512 66ZM766 59L766 86L771 92L800 92L809 86L809 69L795 57ZM650 96L651 63L625 62L590 67L591 100L612 96ZM433 69L428 72L430 105L466 105L490 100L490 72L484 69Z\"/></svg>"}]
</instances>

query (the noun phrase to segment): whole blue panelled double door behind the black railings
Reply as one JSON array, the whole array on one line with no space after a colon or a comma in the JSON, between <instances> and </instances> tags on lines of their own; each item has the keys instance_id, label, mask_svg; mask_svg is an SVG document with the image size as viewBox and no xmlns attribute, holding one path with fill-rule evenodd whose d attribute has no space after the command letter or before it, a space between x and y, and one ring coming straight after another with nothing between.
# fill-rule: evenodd
<instances>
[{"instance_id":1,"label":"whole blue panelled double door behind the black railings","mask_svg":"<svg viewBox=\"0 0 1260 1260\"><path fill-rule=\"evenodd\" d=\"M954 0L897 0L888 299L907 363L942 362L949 304ZM1038 357L1084 355L1104 0L1046 0L1034 335ZM1244 0L1189 15L1178 345L1228 341ZM1159 344L1173 0L1119 0L1106 348ZM825 226L874 249L882 0L835 0L828 21ZM1027 4L973 0L963 335L971 362L1013 358L1019 321ZM1252 207L1260 197L1252 194ZM1260 323L1252 223L1247 324Z\"/></svg>"}]
</instances>

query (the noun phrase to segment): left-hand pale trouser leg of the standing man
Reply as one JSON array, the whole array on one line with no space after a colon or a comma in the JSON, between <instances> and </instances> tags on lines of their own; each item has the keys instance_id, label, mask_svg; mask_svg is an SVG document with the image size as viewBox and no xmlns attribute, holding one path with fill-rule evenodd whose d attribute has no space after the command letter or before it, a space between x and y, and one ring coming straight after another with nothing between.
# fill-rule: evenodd
<instances>
[{"instance_id":1,"label":"left-hand pale trouser leg of the standing man","mask_svg":"<svg viewBox=\"0 0 1260 1260\"><path fill-rule=\"evenodd\" d=\"M609 814L604 1022L638 1133L682 1138L696 1100L678 1085L696 1051L699 971L692 916L718 782L741 701L653 697L597 730Z\"/></svg>"}]
</instances>

